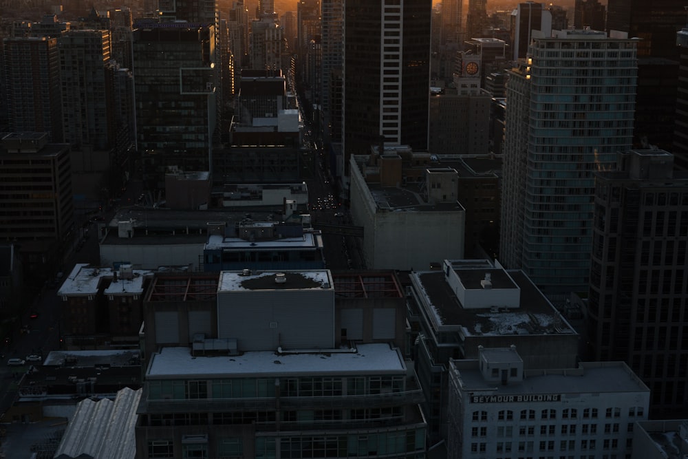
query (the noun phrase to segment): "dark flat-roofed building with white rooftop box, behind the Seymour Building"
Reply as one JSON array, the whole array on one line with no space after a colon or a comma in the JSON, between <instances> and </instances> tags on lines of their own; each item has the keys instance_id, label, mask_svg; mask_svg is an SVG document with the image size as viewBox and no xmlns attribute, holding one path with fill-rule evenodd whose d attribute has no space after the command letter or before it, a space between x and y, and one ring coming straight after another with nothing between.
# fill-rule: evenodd
<instances>
[{"instance_id":1,"label":"dark flat-roofed building with white rooftop box, behind the Seymour Building","mask_svg":"<svg viewBox=\"0 0 688 459\"><path fill-rule=\"evenodd\" d=\"M438 268L417 270L409 279L413 359L431 442L455 434L448 424L450 359L478 359L482 347L514 344L529 368L569 368L576 365L579 340L522 271L477 259L444 260Z\"/></svg>"}]
</instances>

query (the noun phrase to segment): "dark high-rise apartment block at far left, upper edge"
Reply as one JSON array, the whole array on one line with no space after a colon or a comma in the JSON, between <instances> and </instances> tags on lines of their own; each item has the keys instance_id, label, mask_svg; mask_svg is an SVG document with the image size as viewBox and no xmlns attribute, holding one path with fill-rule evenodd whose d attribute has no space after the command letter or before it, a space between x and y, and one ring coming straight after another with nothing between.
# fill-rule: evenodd
<instances>
[{"instance_id":1,"label":"dark high-rise apartment block at far left, upper edge","mask_svg":"<svg viewBox=\"0 0 688 459\"><path fill-rule=\"evenodd\" d=\"M47 132L52 142L62 142L57 39L5 39L4 58L10 130Z\"/></svg>"}]
</instances>

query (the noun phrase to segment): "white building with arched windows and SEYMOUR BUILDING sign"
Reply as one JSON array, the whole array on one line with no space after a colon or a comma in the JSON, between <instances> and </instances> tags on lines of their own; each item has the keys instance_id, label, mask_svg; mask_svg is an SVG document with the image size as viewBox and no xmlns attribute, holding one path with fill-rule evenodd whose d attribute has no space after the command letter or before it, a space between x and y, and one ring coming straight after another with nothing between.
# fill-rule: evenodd
<instances>
[{"instance_id":1,"label":"white building with arched windows and SEYMOUR BUILDING sign","mask_svg":"<svg viewBox=\"0 0 688 459\"><path fill-rule=\"evenodd\" d=\"M449 361L447 457L629 457L649 389L623 362L527 370L515 346Z\"/></svg>"}]
</instances>

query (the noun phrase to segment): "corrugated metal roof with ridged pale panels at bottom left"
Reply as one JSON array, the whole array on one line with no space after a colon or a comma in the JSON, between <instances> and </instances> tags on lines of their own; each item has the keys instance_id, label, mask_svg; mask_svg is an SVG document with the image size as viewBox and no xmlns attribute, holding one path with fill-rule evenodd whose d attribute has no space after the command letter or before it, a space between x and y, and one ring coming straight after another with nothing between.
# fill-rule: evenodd
<instances>
[{"instance_id":1,"label":"corrugated metal roof with ridged pale panels at bottom left","mask_svg":"<svg viewBox=\"0 0 688 459\"><path fill-rule=\"evenodd\" d=\"M136 409L142 389L125 387L114 401L89 398L76 406L58 447L56 459L134 459Z\"/></svg>"}]
</instances>

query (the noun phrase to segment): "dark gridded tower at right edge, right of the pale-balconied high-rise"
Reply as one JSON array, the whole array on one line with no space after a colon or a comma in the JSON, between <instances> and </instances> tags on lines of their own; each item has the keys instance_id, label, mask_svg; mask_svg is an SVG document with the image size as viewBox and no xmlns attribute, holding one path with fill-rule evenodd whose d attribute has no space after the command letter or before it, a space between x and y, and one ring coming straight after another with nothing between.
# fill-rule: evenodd
<instances>
[{"instance_id":1,"label":"dark gridded tower at right edge, right of the pale-balconied high-rise","mask_svg":"<svg viewBox=\"0 0 688 459\"><path fill-rule=\"evenodd\" d=\"M622 360L663 417L688 412L688 173L662 150L619 154L596 174L588 343Z\"/></svg>"}]
</instances>

